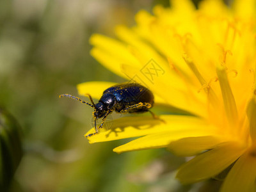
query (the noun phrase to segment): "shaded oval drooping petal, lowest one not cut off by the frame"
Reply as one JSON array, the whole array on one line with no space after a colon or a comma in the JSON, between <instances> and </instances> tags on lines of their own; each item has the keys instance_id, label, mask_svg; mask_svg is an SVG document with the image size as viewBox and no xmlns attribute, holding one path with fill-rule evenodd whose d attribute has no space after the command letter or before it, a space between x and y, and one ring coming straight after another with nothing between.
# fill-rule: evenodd
<instances>
[{"instance_id":1,"label":"shaded oval drooping petal, lowest one not cut off by the frame","mask_svg":"<svg viewBox=\"0 0 256 192\"><path fill-rule=\"evenodd\" d=\"M183 164L177 173L177 179L188 184L213 177L236 161L243 152L244 148L235 141L221 143Z\"/></svg>"}]
</instances>

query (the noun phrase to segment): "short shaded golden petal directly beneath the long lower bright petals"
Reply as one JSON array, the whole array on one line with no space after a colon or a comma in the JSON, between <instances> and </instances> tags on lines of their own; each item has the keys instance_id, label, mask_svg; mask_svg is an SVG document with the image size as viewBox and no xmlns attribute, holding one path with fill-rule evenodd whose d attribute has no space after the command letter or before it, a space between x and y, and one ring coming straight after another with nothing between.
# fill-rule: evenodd
<instances>
[{"instance_id":1,"label":"short shaded golden petal directly beneath the long lower bright petals","mask_svg":"<svg viewBox=\"0 0 256 192\"><path fill-rule=\"evenodd\" d=\"M188 157L195 156L204 150L212 149L221 142L223 142L223 138L220 138L219 136L182 138L181 140L170 143L168 149L177 156Z\"/></svg>"}]
</instances>

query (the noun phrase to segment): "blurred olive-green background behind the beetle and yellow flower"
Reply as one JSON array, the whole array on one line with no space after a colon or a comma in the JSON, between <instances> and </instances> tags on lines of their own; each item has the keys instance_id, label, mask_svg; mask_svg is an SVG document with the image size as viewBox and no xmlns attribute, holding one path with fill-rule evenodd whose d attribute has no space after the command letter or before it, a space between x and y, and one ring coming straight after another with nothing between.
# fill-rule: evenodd
<instances>
[{"instance_id":1,"label":"blurred olive-green background behind the beetle and yellow flower","mask_svg":"<svg viewBox=\"0 0 256 192\"><path fill-rule=\"evenodd\" d=\"M90 145L92 109L59 99L86 81L125 80L92 56L90 35L113 36L141 9L168 1L1 0L0 106L22 127L24 156L11 191L188 191L184 159L164 149L115 154L128 140ZM97 89L97 88L95 88Z\"/></svg>"}]
</instances>

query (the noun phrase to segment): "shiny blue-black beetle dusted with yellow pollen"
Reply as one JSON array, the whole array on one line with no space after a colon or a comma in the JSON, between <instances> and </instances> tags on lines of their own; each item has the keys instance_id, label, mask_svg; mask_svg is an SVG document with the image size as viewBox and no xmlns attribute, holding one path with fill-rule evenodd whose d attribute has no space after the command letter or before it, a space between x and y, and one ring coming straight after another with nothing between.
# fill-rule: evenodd
<instances>
[{"instance_id":1,"label":"shiny blue-black beetle dusted with yellow pollen","mask_svg":"<svg viewBox=\"0 0 256 192\"><path fill-rule=\"evenodd\" d=\"M150 92L148 88L138 83L121 83L111 86L103 92L97 104L93 102L91 95L87 94L87 96L92 104L70 94L60 95L60 97L69 97L70 99L78 100L94 109L93 118L95 132L88 134L86 137L97 134L99 129L102 128L106 117L113 111L117 113L144 113L148 111L153 118L159 119L149 110L154 104L153 93ZM96 125L98 118L102 118L102 123L99 128L97 128Z\"/></svg>"}]
</instances>

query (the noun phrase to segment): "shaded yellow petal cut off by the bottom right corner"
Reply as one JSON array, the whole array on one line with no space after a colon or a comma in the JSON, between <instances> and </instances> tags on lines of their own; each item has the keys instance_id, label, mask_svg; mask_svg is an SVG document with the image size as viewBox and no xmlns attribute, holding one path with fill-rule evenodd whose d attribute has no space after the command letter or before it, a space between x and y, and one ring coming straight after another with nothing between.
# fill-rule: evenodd
<instances>
[{"instance_id":1,"label":"shaded yellow petal cut off by the bottom right corner","mask_svg":"<svg viewBox=\"0 0 256 192\"><path fill-rule=\"evenodd\" d=\"M241 156L228 173L221 192L254 192L256 178L256 157L255 154L246 152Z\"/></svg>"}]
</instances>

